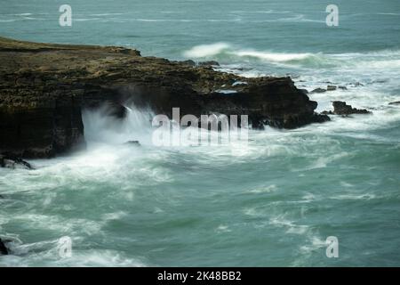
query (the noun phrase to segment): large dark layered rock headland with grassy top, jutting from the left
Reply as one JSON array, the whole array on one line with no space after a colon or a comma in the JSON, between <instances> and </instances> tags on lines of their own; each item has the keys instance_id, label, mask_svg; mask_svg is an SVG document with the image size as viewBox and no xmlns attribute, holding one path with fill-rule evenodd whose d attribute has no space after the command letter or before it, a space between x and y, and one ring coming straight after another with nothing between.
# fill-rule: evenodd
<instances>
[{"instance_id":1,"label":"large dark layered rock headland with grassy top, jutting from the left","mask_svg":"<svg viewBox=\"0 0 400 285\"><path fill-rule=\"evenodd\" d=\"M0 37L0 151L48 158L84 148L82 110L108 103L156 114L248 115L254 127L329 120L290 77L244 78L121 47L50 45ZM246 82L235 85L235 82ZM224 90L233 91L225 94Z\"/></svg>"}]
</instances>

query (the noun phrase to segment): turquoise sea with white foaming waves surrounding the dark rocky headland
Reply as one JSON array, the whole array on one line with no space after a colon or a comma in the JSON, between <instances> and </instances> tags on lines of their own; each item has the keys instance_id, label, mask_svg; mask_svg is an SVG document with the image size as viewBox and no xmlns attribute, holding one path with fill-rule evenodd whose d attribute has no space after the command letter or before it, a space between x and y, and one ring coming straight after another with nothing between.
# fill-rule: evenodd
<instances>
[{"instance_id":1,"label":"turquoise sea with white foaming waves surrounding the dark rocky headland","mask_svg":"<svg viewBox=\"0 0 400 285\"><path fill-rule=\"evenodd\" d=\"M342 100L372 115L251 131L249 142L164 147L148 110L123 126L85 112L88 151L0 169L0 266L400 265L400 3L336 1L3 1L0 35L124 45L172 60L217 60L244 76L291 75L318 110ZM330 83L328 83L330 82ZM360 83L361 85L359 85ZM140 148L121 146L138 139ZM61 258L58 240L72 239ZM325 240L339 239L327 258Z\"/></svg>"}]
</instances>

